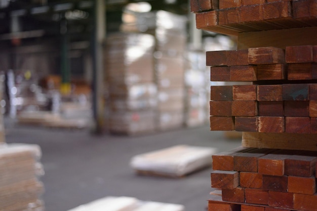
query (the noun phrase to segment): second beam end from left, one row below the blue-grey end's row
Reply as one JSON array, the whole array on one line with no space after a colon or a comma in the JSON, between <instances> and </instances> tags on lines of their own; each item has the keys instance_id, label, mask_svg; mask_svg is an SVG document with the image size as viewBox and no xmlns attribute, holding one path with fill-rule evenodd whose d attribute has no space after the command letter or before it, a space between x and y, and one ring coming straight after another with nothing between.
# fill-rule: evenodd
<instances>
[{"instance_id":1,"label":"second beam end from left, one row below the blue-grey end's row","mask_svg":"<svg viewBox=\"0 0 317 211\"><path fill-rule=\"evenodd\" d=\"M257 101L232 101L232 116L254 117L257 115Z\"/></svg>"}]
</instances>

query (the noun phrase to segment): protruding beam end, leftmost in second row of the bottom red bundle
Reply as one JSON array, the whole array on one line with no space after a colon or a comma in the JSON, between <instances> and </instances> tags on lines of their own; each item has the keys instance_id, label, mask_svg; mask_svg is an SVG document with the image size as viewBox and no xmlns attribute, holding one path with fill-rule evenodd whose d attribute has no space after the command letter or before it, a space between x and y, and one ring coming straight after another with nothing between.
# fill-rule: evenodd
<instances>
[{"instance_id":1,"label":"protruding beam end, leftmost in second row of the bottom red bundle","mask_svg":"<svg viewBox=\"0 0 317 211\"><path fill-rule=\"evenodd\" d=\"M212 188L234 189L239 185L239 172L216 170L211 173Z\"/></svg>"}]
</instances>

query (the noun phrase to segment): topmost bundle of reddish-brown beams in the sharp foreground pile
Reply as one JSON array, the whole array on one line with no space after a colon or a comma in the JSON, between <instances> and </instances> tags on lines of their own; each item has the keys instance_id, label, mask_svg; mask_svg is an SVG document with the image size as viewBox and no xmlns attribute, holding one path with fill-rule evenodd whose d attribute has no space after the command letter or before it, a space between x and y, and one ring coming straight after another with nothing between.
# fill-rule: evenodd
<instances>
[{"instance_id":1,"label":"topmost bundle of reddish-brown beams in the sharp foreground pile","mask_svg":"<svg viewBox=\"0 0 317 211\"><path fill-rule=\"evenodd\" d=\"M197 28L224 34L317 26L315 0L191 0L190 6Z\"/></svg>"}]
</instances>

